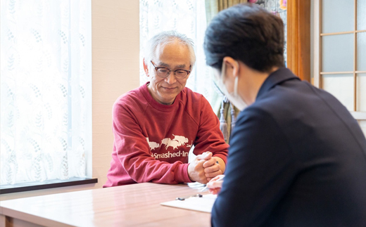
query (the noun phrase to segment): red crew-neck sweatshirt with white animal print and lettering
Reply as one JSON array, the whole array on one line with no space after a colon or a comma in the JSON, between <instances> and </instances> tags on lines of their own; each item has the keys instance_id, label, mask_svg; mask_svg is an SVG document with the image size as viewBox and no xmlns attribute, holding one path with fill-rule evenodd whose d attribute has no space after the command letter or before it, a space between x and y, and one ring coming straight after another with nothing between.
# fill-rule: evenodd
<instances>
[{"instance_id":1,"label":"red crew-neck sweatshirt with white animal print and lettering","mask_svg":"<svg viewBox=\"0 0 366 227\"><path fill-rule=\"evenodd\" d=\"M201 94L184 88L172 105L153 99L147 84L120 96L113 105L113 153L103 187L129 183L191 182L188 153L210 151L226 163L220 122Z\"/></svg>"}]
</instances>

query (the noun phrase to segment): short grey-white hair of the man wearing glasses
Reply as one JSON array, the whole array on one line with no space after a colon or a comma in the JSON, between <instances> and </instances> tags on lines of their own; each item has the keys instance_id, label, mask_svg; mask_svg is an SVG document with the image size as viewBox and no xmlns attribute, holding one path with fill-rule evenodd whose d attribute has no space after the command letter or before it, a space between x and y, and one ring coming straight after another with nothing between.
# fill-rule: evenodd
<instances>
[{"instance_id":1,"label":"short grey-white hair of the man wearing glasses","mask_svg":"<svg viewBox=\"0 0 366 227\"><path fill-rule=\"evenodd\" d=\"M156 48L159 45L166 45L178 41L180 44L184 44L187 46L189 50L189 58L191 67L194 66L196 63L196 54L194 53L194 42L192 39L189 39L185 34L181 34L176 31L167 31L167 32L160 32L153 36L146 44L145 47L145 64L150 65L150 61L153 58L156 58Z\"/></svg>"}]
</instances>

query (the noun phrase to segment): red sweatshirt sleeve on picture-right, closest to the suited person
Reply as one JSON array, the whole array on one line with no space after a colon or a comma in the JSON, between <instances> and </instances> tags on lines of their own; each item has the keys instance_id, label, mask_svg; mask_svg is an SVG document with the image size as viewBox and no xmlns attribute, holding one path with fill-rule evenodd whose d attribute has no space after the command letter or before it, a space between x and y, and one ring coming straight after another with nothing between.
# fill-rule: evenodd
<instances>
[{"instance_id":1,"label":"red sweatshirt sleeve on picture-right, closest to the suited person","mask_svg":"<svg viewBox=\"0 0 366 227\"><path fill-rule=\"evenodd\" d=\"M213 112L208 100L202 96L194 154L199 155L210 151L214 157L220 157L226 164L228 148L229 145L225 143L224 136L220 130L220 121L215 112Z\"/></svg>"}]
</instances>

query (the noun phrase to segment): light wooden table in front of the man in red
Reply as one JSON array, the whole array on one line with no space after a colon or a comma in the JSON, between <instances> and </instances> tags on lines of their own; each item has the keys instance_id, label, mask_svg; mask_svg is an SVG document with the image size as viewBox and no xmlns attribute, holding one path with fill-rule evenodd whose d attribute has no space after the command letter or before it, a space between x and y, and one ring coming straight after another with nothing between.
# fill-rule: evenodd
<instances>
[{"instance_id":1,"label":"light wooden table in front of the man in red","mask_svg":"<svg viewBox=\"0 0 366 227\"><path fill-rule=\"evenodd\" d=\"M138 183L0 203L0 226L210 226L210 214L160 202L194 195L187 185Z\"/></svg>"}]
</instances>

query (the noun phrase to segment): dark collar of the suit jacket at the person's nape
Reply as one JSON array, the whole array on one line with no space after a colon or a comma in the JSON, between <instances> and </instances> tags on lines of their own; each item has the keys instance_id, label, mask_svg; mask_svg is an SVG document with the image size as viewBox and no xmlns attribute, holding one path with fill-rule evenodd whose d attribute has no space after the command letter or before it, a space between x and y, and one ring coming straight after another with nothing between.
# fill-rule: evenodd
<instances>
[{"instance_id":1,"label":"dark collar of the suit jacket at the person's nape","mask_svg":"<svg viewBox=\"0 0 366 227\"><path fill-rule=\"evenodd\" d=\"M267 91L270 91L270 89L272 89L277 84L280 84L289 79L300 80L298 77L296 77L295 74L293 74L291 72L291 70L289 70L286 67L279 68L278 70L272 72L267 77L267 79L265 79L265 82L263 82L262 86L260 86L260 89L257 94L257 98L255 98L255 100L260 98L260 96L263 96L265 93L267 93Z\"/></svg>"}]
</instances>

